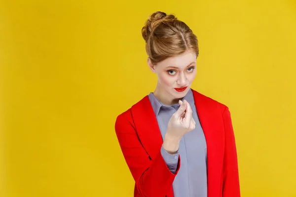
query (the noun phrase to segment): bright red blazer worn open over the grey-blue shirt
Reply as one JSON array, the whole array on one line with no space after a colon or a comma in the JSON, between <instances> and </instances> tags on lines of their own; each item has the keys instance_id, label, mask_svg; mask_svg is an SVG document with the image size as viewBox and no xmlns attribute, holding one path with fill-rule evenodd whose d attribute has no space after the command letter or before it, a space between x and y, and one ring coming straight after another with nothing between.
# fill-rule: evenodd
<instances>
[{"instance_id":1,"label":"bright red blazer worn open over the grey-blue shirt","mask_svg":"<svg viewBox=\"0 0 296 197\"><path fill-rule=\"evenodd\" d=\"M240 197L237 153L228 107L194 90L207 143L208 197ZM162 137L148 96L120 114L115 132L135 180L134 197L174 197L171 173L160 149Z\"/></svg>"}]
</instances>

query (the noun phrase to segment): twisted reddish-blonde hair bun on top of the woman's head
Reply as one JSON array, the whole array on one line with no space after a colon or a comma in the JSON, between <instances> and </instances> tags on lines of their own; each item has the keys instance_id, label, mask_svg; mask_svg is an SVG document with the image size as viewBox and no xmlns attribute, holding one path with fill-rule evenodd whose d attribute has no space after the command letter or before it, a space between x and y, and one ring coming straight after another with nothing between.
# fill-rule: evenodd
<instances>
[{"instance_id":1,"label":"twisted reddish-blonde hair bun on top of the woman's head","mask_svg":"<svg viewBox=\"0 0 296 197\"><path fill-rule=\"evenodd\" d=\"M145 26L142 28L142 36L145 41L148 41L150 34L159 24L161 24L161 22L173 21L174 19L177 19L174 15L167 15L164 12L157 11L152 13L146 21Z\"/></svg>"}]
</instances>

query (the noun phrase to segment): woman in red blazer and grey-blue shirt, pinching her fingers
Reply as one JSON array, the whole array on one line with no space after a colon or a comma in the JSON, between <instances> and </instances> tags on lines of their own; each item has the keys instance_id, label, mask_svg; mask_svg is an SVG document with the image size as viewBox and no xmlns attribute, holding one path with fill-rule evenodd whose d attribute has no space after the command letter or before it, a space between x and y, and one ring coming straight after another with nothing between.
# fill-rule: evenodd
<instances>
[{"instance_id":1,"label":"woman in red blazer and grey-blue shirt, pinching her fingers","mask_svg":"<svg viewBox=\"0 0 296 197\"><path fill-rule=\"evenodd\" d=\"M239 197L228 107L190 88L198 42L174 15L155 12L142 29L153 93L120 114L115 131L135 197Z\"/></svg>"}]
</instances>

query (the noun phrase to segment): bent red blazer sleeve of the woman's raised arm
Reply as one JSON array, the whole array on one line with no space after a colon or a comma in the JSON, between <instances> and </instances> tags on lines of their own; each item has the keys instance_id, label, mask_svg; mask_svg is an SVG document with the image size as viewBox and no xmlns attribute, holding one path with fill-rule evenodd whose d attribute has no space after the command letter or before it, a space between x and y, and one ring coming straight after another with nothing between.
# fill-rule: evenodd
<instances>
[{"instance_id":1,"label":"bent red blazer sleeve of the woman's raised arm","mask_svg":"<svg viewBox=\"0 0 296 197\"><path fill-rule=\"evenodd\" d=\"M169 170L160 148L156 158L152 161L138 138L129 111L117 117L115 132L124 159L141 196L165 197L179 171L180 156L176 173Z\"/></svg>"}]
</instances>

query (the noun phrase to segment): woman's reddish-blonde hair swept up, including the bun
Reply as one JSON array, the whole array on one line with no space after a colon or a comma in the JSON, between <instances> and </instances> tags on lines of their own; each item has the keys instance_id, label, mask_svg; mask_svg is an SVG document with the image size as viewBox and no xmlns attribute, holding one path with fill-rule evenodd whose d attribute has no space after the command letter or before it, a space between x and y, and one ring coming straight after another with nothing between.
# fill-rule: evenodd
<instances>
[{"instance_id":1,"label":"woman's reddish-blonde hair swept up, including the bun","mask_svg":"<svg viewBox=\"0 0 296 197\"><path fill-rule=\"evenodd\" d=\"M147 55L154 65L189 49L198 57L196 35L172 14L152 13L142 28L142 36L146 41Z\"/></svg>"}]
</instances>

